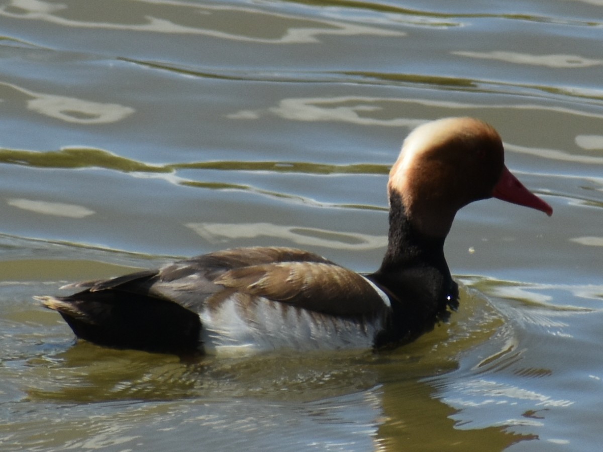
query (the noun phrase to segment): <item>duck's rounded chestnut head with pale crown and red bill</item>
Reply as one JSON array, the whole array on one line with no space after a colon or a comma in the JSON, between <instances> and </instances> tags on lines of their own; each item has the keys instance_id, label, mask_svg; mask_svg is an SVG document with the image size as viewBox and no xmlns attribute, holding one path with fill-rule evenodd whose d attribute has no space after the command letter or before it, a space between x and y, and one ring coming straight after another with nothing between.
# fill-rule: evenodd
<instances>
[{"instance_id":1,"label":"duck's rounded chestnut head with pale crown and red bill","mask_svg":"<svg viewBox=\"0 0 603 452\"><path fill-rule=\"evenodd\" d=\"M552 215L552 208L505 166L499 134L473 118L445 118L415 128L390 171L390 202L399 196L412 227L446 237L456 212L479 199L498 198Z\"/></svg>"}]
</instances>

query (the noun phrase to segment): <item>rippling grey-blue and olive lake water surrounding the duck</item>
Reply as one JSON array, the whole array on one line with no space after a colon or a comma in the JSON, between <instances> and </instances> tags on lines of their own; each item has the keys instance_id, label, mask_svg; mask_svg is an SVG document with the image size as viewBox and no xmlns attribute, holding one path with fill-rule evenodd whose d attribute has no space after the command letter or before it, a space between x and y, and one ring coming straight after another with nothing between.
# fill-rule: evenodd
<instances>
[{"instance_id":1,"label":"rippling grey-blue and olive lake water surrounding the duck","mask_svg":"<svg viewBox=\"0 0 603 452\"><path fill-rule=\"evenodd\" d=\"M585 451L603 435L601 0L0 4L0 449ZM462 210L461 308L384 353L186 362L34 295L239 245L377 268L410 128L555 210Z\"/></svg>"}]
</instances>

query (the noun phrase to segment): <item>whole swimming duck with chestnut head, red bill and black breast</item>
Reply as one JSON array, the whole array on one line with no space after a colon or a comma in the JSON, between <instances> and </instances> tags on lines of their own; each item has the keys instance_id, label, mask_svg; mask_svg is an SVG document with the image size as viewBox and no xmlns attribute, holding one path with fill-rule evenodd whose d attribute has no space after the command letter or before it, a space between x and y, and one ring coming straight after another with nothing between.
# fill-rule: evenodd
<instances>
[{"instance_id":1,"label":"whole swimming duck with chestnut head, red bill and black breast","mask_svg":"<svg viewBox=\"0 0 603 452\"><path fill-rule=\"evenodd\" d=\"M37 297L77 339L169 354L377 349L413 341L458 308L444 240L459 209L497 198L552 215L475 118L414 128L391 167L388 244L359 274L296 248L232 248Z\"/></svg>"}]
</instances>

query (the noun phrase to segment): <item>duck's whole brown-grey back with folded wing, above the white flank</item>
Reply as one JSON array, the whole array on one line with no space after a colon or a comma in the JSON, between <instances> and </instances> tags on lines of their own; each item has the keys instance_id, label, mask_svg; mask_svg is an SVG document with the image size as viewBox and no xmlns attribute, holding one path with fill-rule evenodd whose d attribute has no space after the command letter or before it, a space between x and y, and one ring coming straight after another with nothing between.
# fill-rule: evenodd
<instances>
[{"instance_id":1,"label":"duck's whole brown-grey back with folded wing, above the white flank","mask_svg":"<svg viewBox=\"0 0 603 452\"><path fill-rule=\"evenodd\" d=\"M157 270L77 284L92 293L112 292L171 301L197 312L233 292L337 316L373 315L384 303L363 277L324 257L295 248L235 248L180 260Z\"/></svg>"}]
</instances>

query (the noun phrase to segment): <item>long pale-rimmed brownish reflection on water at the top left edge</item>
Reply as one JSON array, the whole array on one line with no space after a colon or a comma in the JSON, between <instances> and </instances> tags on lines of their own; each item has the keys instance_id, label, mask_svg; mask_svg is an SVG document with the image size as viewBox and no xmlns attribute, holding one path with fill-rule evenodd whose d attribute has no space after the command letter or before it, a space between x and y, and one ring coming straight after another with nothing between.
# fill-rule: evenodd
<instances>
[{"instance_id":1,"label":"long pale-rimmed brownish reflection on water at the top left edge","mask_svg":"<svg viewBox=\"0 0 603 452\"><path fill-rule=\"evenodd\" d=\"M0 7L0 15L11 19L43 21L69 28L192 34L264 44L318 43L320 37L324 36L402 37L406 34L402 31L338 20L302 19L301 16L269 13L241 5L155 1L152 3L162 6L162 17L151 16L145 8L145 1L132 2L126 9L122 2L118 2L113 8L106 7L107 17L102 17L99 16L101 11L98 10L93 10L93 14L86 14L86 10L77 3L68 6L66 3L52 4L42 0L12 0ZM119 16L113 13L114 8L120 8ZM185 10L189 11L183 14ZM191 14L194 14L196 20L190 20ZM89 19L69 18L78 15ZM244 24L244 27L239 27L240 24ZM226 31L228 28L232 28L233 32ZM273 37L269 37L270 35Z\"/></svg>"}]
</instances>

